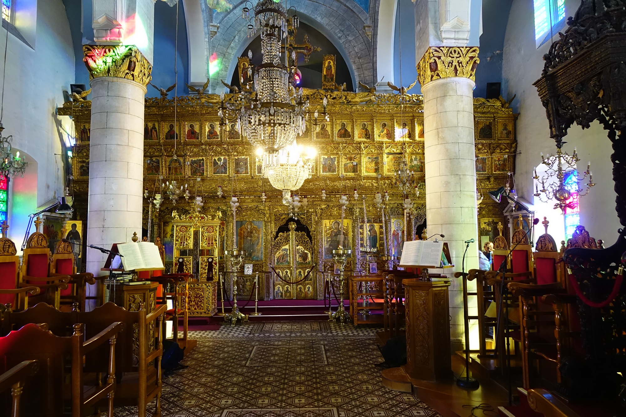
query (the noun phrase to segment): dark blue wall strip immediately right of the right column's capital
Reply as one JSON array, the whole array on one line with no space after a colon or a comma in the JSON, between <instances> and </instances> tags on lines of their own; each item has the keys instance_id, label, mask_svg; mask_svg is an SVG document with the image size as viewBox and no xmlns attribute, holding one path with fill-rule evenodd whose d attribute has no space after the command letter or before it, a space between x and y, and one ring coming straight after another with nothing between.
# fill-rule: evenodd
<instances>
[{"instance_id":1,"label":"dark blue wall strip immediately right of the right column's capital","mask_svg":"<svg viewBox=\"0 0 626 417\"><path fill-rule=\"evenodd\" d=\"M502 82L502 51L511 3L513 0L483 0L483 34L480 36L475 97L485 97L487 83ZM534 29L530 27L528 30Z\"/></svg>"}]
</instances>

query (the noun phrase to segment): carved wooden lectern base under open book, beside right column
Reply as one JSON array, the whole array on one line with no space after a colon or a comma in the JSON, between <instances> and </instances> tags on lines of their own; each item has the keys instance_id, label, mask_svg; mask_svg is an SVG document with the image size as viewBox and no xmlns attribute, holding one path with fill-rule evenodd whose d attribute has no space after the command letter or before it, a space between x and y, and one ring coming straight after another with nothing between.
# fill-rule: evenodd
<instances>
[{"instance_id":1,"label":"carved wooden lectern base under open book, beside right column","mask_svg":"<svg viewBox=\"0 0 626 417\"><path fill-rule=\"evenodd\" d=\"M404 279L406 290L406 373L435 381L452 377L449 281Z\"/></svg>"}]
</instances>

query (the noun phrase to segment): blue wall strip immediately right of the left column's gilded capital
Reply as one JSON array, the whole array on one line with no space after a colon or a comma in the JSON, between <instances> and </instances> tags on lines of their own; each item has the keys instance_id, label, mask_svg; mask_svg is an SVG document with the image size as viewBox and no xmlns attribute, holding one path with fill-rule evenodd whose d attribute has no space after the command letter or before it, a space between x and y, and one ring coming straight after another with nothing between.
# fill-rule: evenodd
<instances>
[{"instance_id":1,"label":"blue wall strip immediately right of the left column's gilded capital","mask_svg":"<svg viewBox=\"0 0 626 417\"><path fill-rule=\"evenodd\" d=\"M183 2L178 2L178 48L176 60L178 78L174 75L174 45L176 41L176 7L167 5L164 1L155 3L155 40L154 62L152 63L152 81L156 86L168 88L178 82L178 95L188 95L189 89L185 83L189 82L189 49L187 46L187 23ZM151 85L147 86L146 97L160 97L158 91ZM170 91L170 98L174 90Z\"/></svg>"}]
</instances>

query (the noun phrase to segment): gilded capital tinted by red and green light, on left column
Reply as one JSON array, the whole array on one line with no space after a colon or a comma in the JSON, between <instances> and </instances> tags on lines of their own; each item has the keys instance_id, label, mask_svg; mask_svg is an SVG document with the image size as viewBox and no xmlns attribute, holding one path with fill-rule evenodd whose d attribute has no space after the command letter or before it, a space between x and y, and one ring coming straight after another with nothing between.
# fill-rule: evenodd
<instances>
[{"instance_id":1,"label":"gilded capital tinted by red and green light, on left column","mask_svg":"<svg viewBox=\"0 0 626 417\"><path fill-rule=\"evenodd\" d=\"M89 78L117 77L148 85L152 65L133 45L83 45Z\"/></svg>"}]
</instances>

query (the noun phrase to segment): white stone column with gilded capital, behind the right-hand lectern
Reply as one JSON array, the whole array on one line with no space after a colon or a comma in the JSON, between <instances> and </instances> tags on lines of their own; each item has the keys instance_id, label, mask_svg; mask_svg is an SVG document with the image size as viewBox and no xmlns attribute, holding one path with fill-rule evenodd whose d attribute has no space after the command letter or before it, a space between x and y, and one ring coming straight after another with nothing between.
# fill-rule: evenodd
<instances>
[{"instance_id":1,"label":"white stone column with gilded capital, behind the right-hand lectern","mask_svg":"<svg viewBox=\"0 0 626 417\"><path fill-rule=\"evenodd\" d=\"M428 234L448 242L454 268L461 270L464 240L475 239L465 270L478 267L476 163L473 95L478 48L431 46L418 63L424 95L424 159ZM454 279L449 291L451 342L459 350L463 333L463 285Z\"/></svg>"}]
</instances>

